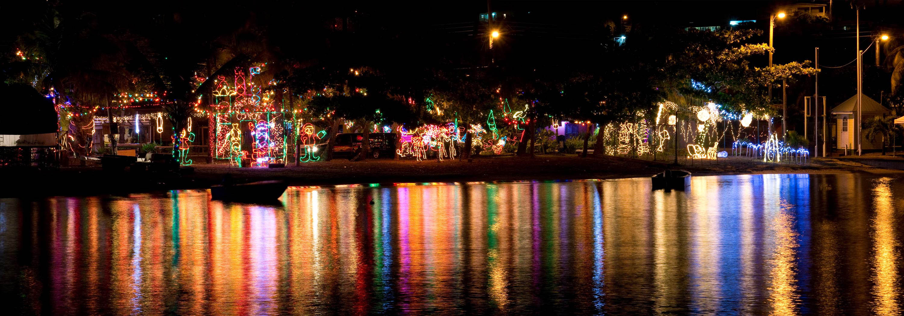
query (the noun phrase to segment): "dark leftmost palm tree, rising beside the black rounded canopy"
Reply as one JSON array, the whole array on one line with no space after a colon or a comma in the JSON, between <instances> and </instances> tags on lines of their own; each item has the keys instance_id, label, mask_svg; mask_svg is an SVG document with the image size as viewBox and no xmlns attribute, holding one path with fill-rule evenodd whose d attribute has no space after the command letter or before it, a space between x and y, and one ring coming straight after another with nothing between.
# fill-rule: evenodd
<instances>
[{"instance_id":1,"label":"dark leftmost palm tree, rising beside the black rounded canopy","mask_svg":"<svg viewBox=\"0 0 904 316\"><path fill-rule=\"evenodd\" d=\"M16 36L18 60L5 64L7 83L27 83L42 94L52 94L61 109L61 125L74 131L60 135L60 144L77 154L89 153L88 134L93 130L94 111L108 107L110 96L132 85L124 67L124 42L99 22L96 14L80 9L47 5L34 28ZM81 114L68 116L68 113ZM71 119L70 119L71 118ZM89 128L82 126L89 125ZM73 134L75 146L68 146ZM112 148L116 140L110 133ZM82 151L80 148L84 148Z\"/></svg>"}]
</instances>

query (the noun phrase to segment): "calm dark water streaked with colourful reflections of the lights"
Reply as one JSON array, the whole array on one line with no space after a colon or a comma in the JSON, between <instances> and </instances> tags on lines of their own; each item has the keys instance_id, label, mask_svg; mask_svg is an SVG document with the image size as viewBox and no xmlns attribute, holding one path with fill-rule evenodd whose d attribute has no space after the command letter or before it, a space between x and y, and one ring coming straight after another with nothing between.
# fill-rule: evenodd
<instances>
[{"instance_id":1,"label":"calm dark water streaked with colourful reflections of the lights","mask_svg":"<svg viewBox=\"0 0 904 316\"><path fill-rule=\"evenodd\" d=\"M372 204L370 201L372 200ZM904 183L860 175L0 200L26 314L900 314ZM13 300L9 300L13 299ZM16 311L18 313L18 311Z\"/></svg>"}]
</instances>

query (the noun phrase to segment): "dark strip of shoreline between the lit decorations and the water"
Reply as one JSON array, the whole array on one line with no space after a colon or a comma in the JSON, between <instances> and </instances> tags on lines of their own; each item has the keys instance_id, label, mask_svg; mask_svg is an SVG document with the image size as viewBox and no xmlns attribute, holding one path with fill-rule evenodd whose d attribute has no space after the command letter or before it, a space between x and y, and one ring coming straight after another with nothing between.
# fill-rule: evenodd
<instances>
[{"instance_id":1,"label":"dark strip of shoreline between the lit decorations and the water","mask_svg":"<svg viewBox=\"0 0 904 316\"><path fill-rule=\"evenodd\" d=\"M160 193L173 190L202 190L221 182L229 174L237 183L283 180L291 187L334 187L392 183L436 183L475 181L578 181L643 178L668 167L621 157L579 158L575 155L545 154L535 158L490 156L464 161L334 160L289 165L286 168L236 168L228 164L194 165L185 175L136 175L103 172L99 166L60 168L54 171L10 174L0 186L0 198L47 198ZM719 163L680 165L673 169L694 176L739 174L842 174L868 173L904 175L904 171L871 167L832 158L817 158L806 164L762 163L746 157L731 157ZM15 172L12 172L15 173Z\"/></svg>"}]
</instances>

